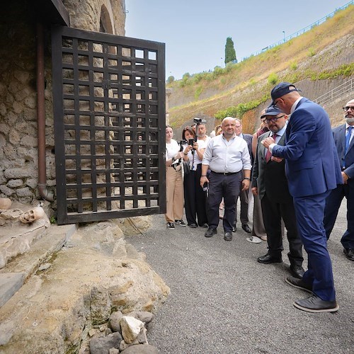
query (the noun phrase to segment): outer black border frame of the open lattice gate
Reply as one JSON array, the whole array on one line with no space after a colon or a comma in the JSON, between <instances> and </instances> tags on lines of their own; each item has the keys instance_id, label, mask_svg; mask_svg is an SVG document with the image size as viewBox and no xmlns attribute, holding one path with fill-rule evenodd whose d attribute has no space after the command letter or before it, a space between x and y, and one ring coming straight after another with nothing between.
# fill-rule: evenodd
<instances>
[{"instance_id":1,"label":"outer black border frame of the open lattice gate","mask_svg":"<svg viewBox=\"0 0 354 354\"><path fill-rule=\"evenodd\" d=\"M157 66L157 92L158 92L158 169L159 183L156 207L137 207L122 210L103 210L89 212L67 211L67 185L65 169L65 144L64 144L64 91L62 77L62 38L77 38L78 40L89 40L105 42L109 45L120 45L133 47L136 50L152 50L156 52ZM97 33L89 30L68 28L64 26L52 26L52 93L53 93L53 117L55 129L55 164L57 184L57 223L73 224L76 222L94 222L107 219L135 217L142 215L164 214L166 212L166 169L165 169L165 147L166 147L166 89L165 89L165 44L136 38L122 37L108 33ZM139 87L139 86L136 86ZM146 155L148 156L148 155Z\"/></svg>"}]
</instances>

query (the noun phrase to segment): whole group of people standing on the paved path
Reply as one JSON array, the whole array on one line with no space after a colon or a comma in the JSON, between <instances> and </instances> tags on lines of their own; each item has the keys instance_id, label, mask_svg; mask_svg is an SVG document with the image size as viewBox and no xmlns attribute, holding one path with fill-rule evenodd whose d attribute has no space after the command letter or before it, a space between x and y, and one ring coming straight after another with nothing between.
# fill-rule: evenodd
<instances>
[{"instance_id":1,"label":"whole group of people standing on the paved path","mask_svg":"<svg viewBox=\"0 0 354 354\"><path fill-rule=\"evenodd\" d=\"M253 135L242 133L241 120L234 117L224 118L210 137L199 119L183 129L180 142L166 125L166 226L203 227L205 237L212 237L222 219L224 240L232 241L239 199L247 241L268 243L259 263L282 262L286 234L291 275L285 281L311 293L294 306L336 312L327 240L346 197L348 227L341 244L346 258L354 261L354 100L343 107L344 124L332 130L324 108L299 92L288 82L275 86Z\"/></svg>"}]
</instances>

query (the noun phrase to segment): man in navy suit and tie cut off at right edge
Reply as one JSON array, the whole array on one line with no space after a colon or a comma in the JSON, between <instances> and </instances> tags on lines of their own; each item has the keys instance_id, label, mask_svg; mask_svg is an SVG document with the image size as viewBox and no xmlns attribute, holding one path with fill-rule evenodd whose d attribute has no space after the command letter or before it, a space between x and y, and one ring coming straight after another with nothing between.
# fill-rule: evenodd
<instances>
[{"instance_id":1,"label":"man in navy suit and tie cut off at right edge","mask_svg":"<svg viewBox=\"0 0 354 354\"><path fill-rule=\"evenodd\" d=\"M326 199L324 228L327 239L329 239L341 202L346 197L348 227L342 236L341 243L346 258L354 261L354 100L350 100L343 110L346 123L333 129L334 142L336 142L338 158L341 163L343 184L333 189Z\"/></svg>"}]
</instances>

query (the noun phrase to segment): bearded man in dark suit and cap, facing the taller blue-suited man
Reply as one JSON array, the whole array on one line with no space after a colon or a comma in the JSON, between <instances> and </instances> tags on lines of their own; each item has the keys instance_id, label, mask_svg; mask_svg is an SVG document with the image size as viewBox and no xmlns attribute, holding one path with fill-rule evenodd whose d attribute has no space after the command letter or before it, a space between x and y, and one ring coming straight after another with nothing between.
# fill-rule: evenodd
<instances>
[{"instance_id":1,"label":"bearded man in dark suit and cap, facing the taller blue-suited man","mask_svg":"<svg viewBox=\"0 0 354 354\"><path fill-rule=\"evenodd\" d=\"M272 161L271 154L262 144L267 137L273 137L275 142L283 146L287 115L279 108L268 107L261 116L265 120L270 132L258 137L257 152L252 169L252 193L259 195L262 205L262 214L265 232L267 233L268 253L257 258L259 263L282 262L282 227L284 220L287 229L287 239L290 251L287 253L290 261L290 273L301 279L304 275L302 268L302 241L297 231L294 204L287 187L285 176L285 161Z\"/></svg>"}]
</instances>

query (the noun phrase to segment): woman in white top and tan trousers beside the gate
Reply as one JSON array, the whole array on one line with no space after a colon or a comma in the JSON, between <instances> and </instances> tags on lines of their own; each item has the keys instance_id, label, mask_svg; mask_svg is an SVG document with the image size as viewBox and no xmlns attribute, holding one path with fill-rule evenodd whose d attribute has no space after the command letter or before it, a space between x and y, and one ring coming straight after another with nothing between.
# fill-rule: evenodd
<instances>
[{"instance_id":1,"label":"woman in white top and tan trousers beside the gate","mask_svg":"<svg viewBox=\"0 0 354 354\"><path fill-rule=\"evenodd\" d=\"M174 222L186 226L183 222L183 178L182 162L188 160L183 150L173 138L173 130L166 125L166 214L168 229L175 229Z\"/></svg>"}]
</instances>

